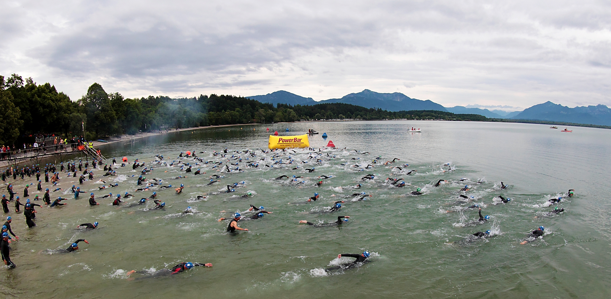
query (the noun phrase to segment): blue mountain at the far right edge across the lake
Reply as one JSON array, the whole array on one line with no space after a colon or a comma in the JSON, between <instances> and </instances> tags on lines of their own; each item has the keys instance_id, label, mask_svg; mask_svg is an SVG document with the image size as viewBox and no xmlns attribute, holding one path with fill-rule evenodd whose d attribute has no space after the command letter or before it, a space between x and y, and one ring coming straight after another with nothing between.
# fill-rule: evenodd
<instances>
[{"instance_id":1,"label":"blue mountain at the far right edge across the lake","mask_svg":"<svg viewBox=\"0 0 611 299\"><path fill-rule=\"evenodd\" d=\"M577 124L611 125L611 109L605 105L568 108L552 102L524 109L511 119L551 120Z\"/></svg>"}]
</instances>

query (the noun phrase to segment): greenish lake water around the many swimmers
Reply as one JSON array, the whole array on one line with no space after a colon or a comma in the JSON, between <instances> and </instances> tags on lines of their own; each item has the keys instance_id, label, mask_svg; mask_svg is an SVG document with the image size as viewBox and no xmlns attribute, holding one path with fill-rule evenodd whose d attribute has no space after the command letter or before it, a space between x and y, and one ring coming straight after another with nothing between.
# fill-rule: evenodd
<instances>
[{"instance_id":1,"label":"greenish lake water around the many swimmers","mask_svg":"<svg viewBox=\"0 0 611 299\"><path fill-rule=\"evenodd\" d=\"M411 126L421 128L422 133L406 132ZM338 149L324 149L316 165L308 157L318 150L262 153L257 149L267 147L266 127L281 135L287 135L285 128L295 135L313 128L329 138L312 136L310 146L318 149L332 140ZM98 190L102 183L89 183L84 189L96 194L98 206L89 207L84 194L60 209L39 207L33 229L24 225L23 215L9 213L15 218L13 231L22 240L12 245L17 268L0 271L1 290L6 298L38 299L609 298L610 140L611 130L596 128L574 127L572 133L562 133L535 124L363 121L244 125L113 144L103 148L106 157L126 156L130 163L139 158L149 168L154 166L147 178L183 183L183 193L175 195L174 188L153 190L166 202L164 210L128 207L152 191L134 193L140 169L125 167L117 168L119 177L107 181L119 183L109 189L113 194L136 194L136 199L128 199L121 207L101 198L109 192ZM211 155L225 147L229 149L226 158ZM347 149L342 150L344 147ZM257 157L233 152L244 149L254 150ZM214 169L212 163L194 166L207 174L186 174L185 179L175 180L185 175L180 167L150 163L158 154L167 162L178 161L178 154L186 150L195 150L205 161L223 161L223 165ZM282 155L276 161L282 158L286 162L290 154L295 162L265 167L273 165L270 159L276 154ZM220 174L216 170L228 164L232 155L241 155L243 162L238 167L244 172L224 174L221 182L206 186L209 176ZM376 157L381 159L372 169L359 171ZM392 158L401 160L381 164ZM246 166L252 160L259 163L258 168ZM304 160L315 172L303 170L306 167L299 163ZM450 163L452 171L443 167L445 163ZM353 167L355 164L359 166ZM394 168L399 164L409 166L399 171ZM296 165L301 166L292 170ZM411 170L417 172L406 174ZM365 174L376 178L360 180ZM302 176L305 179L299 180L305 183L274 180L280 175ZM317 187L319 175L333 177ZM386 182L387 177L403 178L407 185L396 188ZM468 180L461 182L463 178ZM434 187L439 179L447 183ZM64 191L53 195L64 192L71 198L65 192L72 185L70 180L62 179ZM223 192L226 185L241 181L246 186L236 188L235 193ZM510 188L501 190L501 181ZM354 190L357 183L362 188ZM464 185L469 191L459 191ZM424 194L409 195L417 188ZM575 189L576 195L557 205L565 212L547 215L556 206L546 207L547 199L563 196L569 189ZM247 192L253 195L239 197ZM320 193L318 201L288 204L305 201L315 192ZM354 192L372 197L354 201ZM197 201L199 194L208 197ZM474 198L459 202L459 194ZM493 204L498 195L512 201ZM339 212L320 213L340 200L345 203ZM249 231L237 234L225 232L227 221L217 222L233 212L245 212L250 204L263 205L273 213L240 221ZM473 204L490 216L486 223L474 222L477 209L464 209ZM200 213L180 214L188 206ZM331 223L343 215L351 218L341 227L299 224L299 220ZM76 225L93 221L100 222L98 229L75 231ZM519 244L539 226L545 227L542 239ZM488 229L492 237L465 239ZM48 254L49 249L67 248L78 238L90 244L79 243L76 253ZM337 254L364 250L370 251L371 262L344 271L324 271L351 260L338 260ZM153 271L186 261L210 262L214 267L194 267L171 277L126 279L129 270Z\"/></svg>"}]
</instances>

